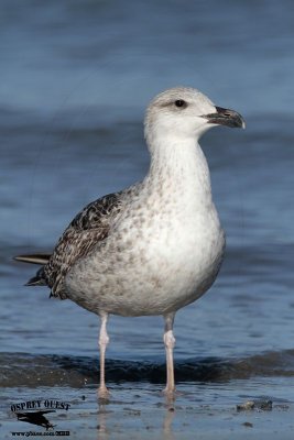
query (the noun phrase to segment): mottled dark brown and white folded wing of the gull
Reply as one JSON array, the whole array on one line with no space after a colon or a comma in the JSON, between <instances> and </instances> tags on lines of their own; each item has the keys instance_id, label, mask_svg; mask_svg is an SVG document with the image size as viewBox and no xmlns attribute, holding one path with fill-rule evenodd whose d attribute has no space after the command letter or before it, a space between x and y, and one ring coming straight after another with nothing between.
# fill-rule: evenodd
<instances>
[{"instance_id":1,"label":"mottled dark brown and white folded wing of the gull","mask_svg":"<svg viewBox=\"0 0 294 440\"><path fill-rule=\"evenodd\" d=\"M51 296L65 299L64 278L68 270L107 238L110 224L120 210L121 193L109 194L87 205L64 231L48 263L32 280L40 279L39 284L51 287Z\"/></svg>"}]
</instances>

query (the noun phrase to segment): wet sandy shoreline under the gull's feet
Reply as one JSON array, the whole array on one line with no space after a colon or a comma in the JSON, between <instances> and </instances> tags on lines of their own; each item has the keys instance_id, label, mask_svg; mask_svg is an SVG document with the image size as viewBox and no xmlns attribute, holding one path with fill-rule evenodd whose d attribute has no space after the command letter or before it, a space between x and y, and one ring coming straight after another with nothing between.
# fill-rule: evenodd
<instances>
[{"instance_id":1,"label":"wet sandy shoreline under the gull's feet","mask_svg":"<svg viewBox=\"0 0 294 440\"><path fill-rule=\"evenodd\" d=\"M128 388L116 386L111 399L98 404L96 389L91 387L74 389L68 387L7 388L1 399L1 439L15 437L37 437L28 432L43 432L42 437L56 431L67 431L68 439L283 439L294 437L294 406L273 400L272 409L237 410L237 404L221 403L215 393L215 403L205 404L199 388L197 393L183 392L174 403L166 403L160 389ZM181 388L181 386L179 386ZM209 388L209 386L208 386ZM229 391L229 385L228 385ZM203 393L206 393L205 385ZM43 402L66 402L69 409L57 408L47 419L54 428L20 421L11 411L11 405L32 398ZM50 397L51 396L51 397ZM46 399L46 400L44 400ZM246 399L243 400L246 402ZM48 404L46 404L48 405ZM55 404L54 404L55 405ZM59 405L59 404L58 404ZM56 406L56 405L55 405ZM22 432L12 435L12 432ZM47 432L47 435L45 435ZM50 433L51 432L51 433Z\"/></svg>"}]
</instances>

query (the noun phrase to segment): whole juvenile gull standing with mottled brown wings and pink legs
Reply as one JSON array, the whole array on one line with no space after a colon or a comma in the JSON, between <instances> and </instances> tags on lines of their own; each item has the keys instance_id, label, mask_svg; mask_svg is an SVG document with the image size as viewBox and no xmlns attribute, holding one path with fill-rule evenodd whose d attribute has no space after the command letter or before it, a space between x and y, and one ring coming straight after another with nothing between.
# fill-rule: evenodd
<instances>
[{"instance_id":1,"label":"whole juvenile gull standing with mottled brown wings and pink legs","mask_svg":"<svg viewBox=\"0 0 294 440\"><path fill-rule=\"evenodd\" d=\"M198 144L215 125L243 128L244 122L196 89L163 91L145 114L151 155L145 178L86 206L52 255L15 257L42 264L28 286L48 286L51 296L72 299L100 316L100 397L108 395L109 314L164 317L165 392L175 391L175 312L211 286L225 251L209 169Z\"/></svg>"}]
</instances>

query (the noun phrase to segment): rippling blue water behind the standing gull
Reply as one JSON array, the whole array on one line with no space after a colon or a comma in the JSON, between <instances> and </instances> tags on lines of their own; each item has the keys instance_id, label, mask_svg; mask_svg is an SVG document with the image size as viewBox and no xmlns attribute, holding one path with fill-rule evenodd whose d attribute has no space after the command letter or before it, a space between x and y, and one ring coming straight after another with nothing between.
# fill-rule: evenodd
<instances>
[{"instance_id":1,"label":"rippling blue water behind the standing gull","mask_svg":"<svg viewBox=\"0 0 294 440\"><path fill-rule=\"evenodd\" d=\"M293 404L293 13L290 0L1 2L0 375L9 426L20 428L11 402L35 394L75 402L84 393L92 408L98 382L97 317L23 287L34 267L11 257L50 251L83 206L145 174L144 107L176 85L247 121L243 132L219 128L202 140L228 249L209 293L176 316L179 405L217 411L262 396ZM107 376L120 409L128 391L148 408L161 402L162 331L157 317L110 319Z\"/></svg>"}]
</instances>

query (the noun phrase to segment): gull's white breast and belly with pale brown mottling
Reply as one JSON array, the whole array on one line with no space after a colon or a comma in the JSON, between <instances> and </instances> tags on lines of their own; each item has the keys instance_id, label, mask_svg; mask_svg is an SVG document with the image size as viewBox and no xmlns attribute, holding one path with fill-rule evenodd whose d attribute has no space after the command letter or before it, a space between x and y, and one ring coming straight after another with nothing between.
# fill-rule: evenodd
<instances>
[{"instance_id":1,"label":"gull's white breast and belly with pale brown mottling","mask_svg":"<svg viewBox=\"0 0 294 440\"><path fill-rule=\"evenodd\" d=\"M206 160L194 142L160 152L166 160L151 165L106 243L66 277L68 296L91 311L175 311L203 295L218 273L225 238Z\"/></svg>"}]
</instances>

